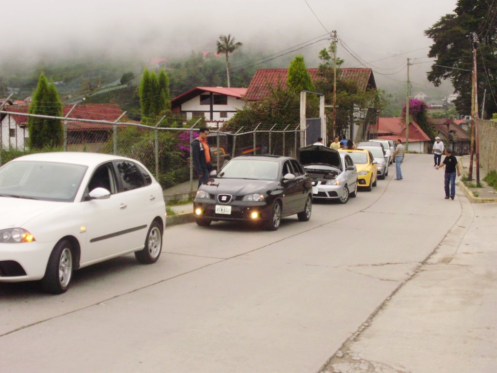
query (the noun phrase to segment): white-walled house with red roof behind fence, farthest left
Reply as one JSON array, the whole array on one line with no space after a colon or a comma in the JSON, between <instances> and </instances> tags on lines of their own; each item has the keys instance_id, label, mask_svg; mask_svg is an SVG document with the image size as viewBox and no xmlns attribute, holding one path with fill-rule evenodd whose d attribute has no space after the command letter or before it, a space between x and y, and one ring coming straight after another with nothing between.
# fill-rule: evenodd
<instances>
[{"instance_id":1,"label":"white-walled house with red roof behind fence, farthest left","mask_svg":"<svg viewBox=\"0 0 497 373\"><path fill-rule=\"evenodd\" d=\"M63 105L63 116L66 116L74 105ZM28 148L29 130L27 114L29 105L10 105L3 107L8 113L0 114L0 144L3 149ZM84 104L76 105L69 114L67 125L68 144L104 143L112 132L112 124L87 122L99 120L114 122L123 111L117 104ZM126 118L121 118L122 121Z\"/></svg>"}]
</instances>

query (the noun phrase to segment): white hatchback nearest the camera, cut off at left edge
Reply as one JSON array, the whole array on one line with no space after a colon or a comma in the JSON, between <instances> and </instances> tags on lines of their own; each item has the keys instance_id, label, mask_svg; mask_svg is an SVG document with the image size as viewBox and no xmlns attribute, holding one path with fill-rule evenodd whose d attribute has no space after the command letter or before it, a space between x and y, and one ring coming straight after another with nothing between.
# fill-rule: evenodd
<instances>
[{"instance_id":1,"label":"white hatchback nearest the camera, cut off at left edge","mask_svg":"<svg viewBox=\"0 0 497 373\"><path fill-rule=\"evenodd\" d=\"M40 153L0 168L0 282L41 280L65 292L74 270L162 251L166 205L140 162L94 153Z\"/></svg>"}]
</instances>

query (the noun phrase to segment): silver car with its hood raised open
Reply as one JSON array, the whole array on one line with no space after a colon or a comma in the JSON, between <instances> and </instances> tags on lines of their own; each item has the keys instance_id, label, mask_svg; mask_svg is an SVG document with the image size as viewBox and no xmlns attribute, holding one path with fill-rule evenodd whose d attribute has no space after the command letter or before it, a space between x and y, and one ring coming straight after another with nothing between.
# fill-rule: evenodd
<instances>
[{"instance_id":1,"label":"silver car with its hood raised open","mask_svg":"<svg viewBox=\"0 0 497 373\"><path fill-rule=\"evenodd\" d=\"M347 203L357 195L357 169L347 153L310 145L299 149L299 160L311 176L313 199Z\"/></svg>"}]
</instances>

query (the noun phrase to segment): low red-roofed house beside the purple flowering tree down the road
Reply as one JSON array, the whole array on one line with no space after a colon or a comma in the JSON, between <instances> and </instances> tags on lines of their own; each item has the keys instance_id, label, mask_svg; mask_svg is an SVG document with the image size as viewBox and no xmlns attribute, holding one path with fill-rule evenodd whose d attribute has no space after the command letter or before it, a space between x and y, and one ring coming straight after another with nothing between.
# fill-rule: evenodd
<instances>
[{"instance_id":1,"label":"low red-roofed house beside the purple flowering tree down the road","mask_svg":"<svg viewBox=\"0 0 497 373\"><path fill-rule=\"evenodd\" d=\"M406 142L406 120L404 118L379 118L378 124L369 126L369 136L381 140L401 139ZM428 153L431 145L429 136L415 122L409 123L409 151Z\"/></svg>"}]
</instances>

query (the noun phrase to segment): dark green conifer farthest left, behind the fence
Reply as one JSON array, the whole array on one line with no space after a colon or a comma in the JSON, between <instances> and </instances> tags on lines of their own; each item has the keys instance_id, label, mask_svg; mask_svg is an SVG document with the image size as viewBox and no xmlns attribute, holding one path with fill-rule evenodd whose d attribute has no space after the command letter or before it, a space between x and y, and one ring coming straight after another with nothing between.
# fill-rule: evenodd
<instances>
[{"instance_id":1,"label":"dark green conifer farthest left, behind the fence","mask_svg":"<svg viewBox=\"0 0 497 373\"><path fill-rule=\"evenodd\" d=\"M59 116L62 117L62 101L59 93L50 81L50 84L41 73L38 79L38 85L33 93L33 99L29 105L28 113ZM64 141L64 129L61 119L46 119L37 117L28 117L28 130L30 147L41 149L44 147L61 146Z\"/></svg>"}]
</instances>

